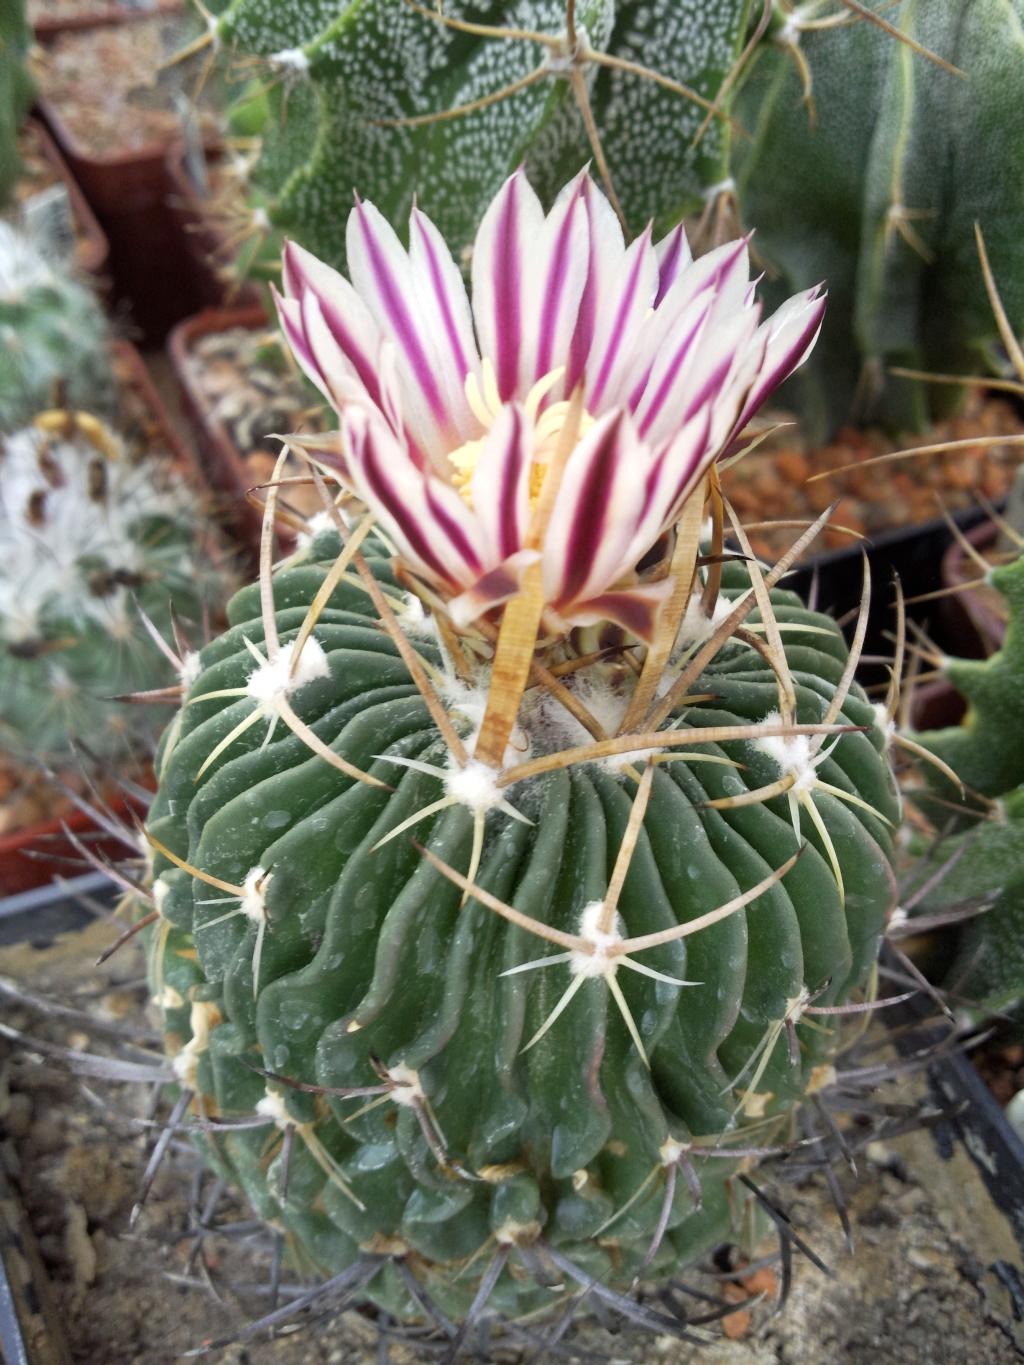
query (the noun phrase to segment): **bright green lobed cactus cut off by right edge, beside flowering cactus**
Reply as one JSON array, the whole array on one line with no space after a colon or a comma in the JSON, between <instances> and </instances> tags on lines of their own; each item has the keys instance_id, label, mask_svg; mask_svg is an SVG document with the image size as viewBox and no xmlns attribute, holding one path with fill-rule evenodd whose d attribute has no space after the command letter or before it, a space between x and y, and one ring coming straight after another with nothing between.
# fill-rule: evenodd
<instances>
[{"instance_id":1,"label":"bright green lobed cactus cut off by right edge, beside flowering cactus","mask_svg":"<svg viewBox=\"0 0 1024 1365\"><path fill-rule=\"evenodd\" d=\"M991 658L942 662L943 676L968 703L960 726L916 738L964 784L930 768L931 786L963 816L949 830L949 804L931 812L946 830L923 860L916 885L933 880L918 906L946 913L991 902L963 930L948 977L961 996L1002 1010L1024 996L1024 556L993 568L990 581L1009 607L1006 639ZM937 875L941 874L941 875Z\"/></svg>"}]
</instances>

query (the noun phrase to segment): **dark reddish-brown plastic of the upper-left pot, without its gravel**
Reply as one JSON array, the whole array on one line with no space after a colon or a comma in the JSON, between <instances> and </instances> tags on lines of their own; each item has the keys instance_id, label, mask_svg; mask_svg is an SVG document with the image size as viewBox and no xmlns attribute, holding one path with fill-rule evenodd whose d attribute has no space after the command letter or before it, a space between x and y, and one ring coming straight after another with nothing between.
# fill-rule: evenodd
<instances>
[{"instance_id":1,"label":"dark reddish-brown plastic of the upper-left pot, without its gravel","mask_svg":"<svg viewBox=\"0 0 1024 1365\"><path fill-rule=\"evenodd\" d=\"M78 25L76 31L152 18L152 11L117 11L102 23ZM41 98L37 112L109 239L115 298L127 304L145 341L162 343L176 322L202 304L188 244L177 217L168 212L171 139L96 156L52 100Z\"/></svg>"}]
</instances>

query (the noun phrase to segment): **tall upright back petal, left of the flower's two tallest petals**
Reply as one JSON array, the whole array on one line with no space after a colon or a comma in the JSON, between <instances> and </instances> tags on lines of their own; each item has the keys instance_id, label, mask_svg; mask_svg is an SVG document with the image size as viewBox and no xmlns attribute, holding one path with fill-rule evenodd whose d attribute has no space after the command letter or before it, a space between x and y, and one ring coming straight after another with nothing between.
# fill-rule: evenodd
<instances>
[{"instance_id":1,"label":"tall upright back petal, left of the flower's two tallest petals","mask_svg":"<svg viewBox=\"0 0 1024 1365\"><path fill-rule=\"evenodd\" d=\"M541 201L522 171L504 183L483 214L472 248L472 315L481 355L494 363L502 403L519 393L527 337L526 289L543 231Z\"/></svg>"}]
</instances>

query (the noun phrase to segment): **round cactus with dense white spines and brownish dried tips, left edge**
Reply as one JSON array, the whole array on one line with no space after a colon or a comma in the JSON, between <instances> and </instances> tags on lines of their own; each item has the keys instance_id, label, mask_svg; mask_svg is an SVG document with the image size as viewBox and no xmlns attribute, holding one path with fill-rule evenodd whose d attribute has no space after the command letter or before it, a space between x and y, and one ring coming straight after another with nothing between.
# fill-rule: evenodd
<instances>
[{"instance_id":1,"label":"round cactus with dense white spines and brownish dried tips, left edge","mask_svg":"<svg viewBox=\"0 0 1024 1365\"><path fill-rule=\"evenodd\" d=\"M132 460L86 414L42 414L0 441L0 734L8 755L142 762L165 715L119 693L171 673L139 609L171 637L223 577L203 565L197 495L167 455ZM194 661L183 661L187 682ZM172 678L173 682L180 680Z\"/></svg>"}]
</instances>

